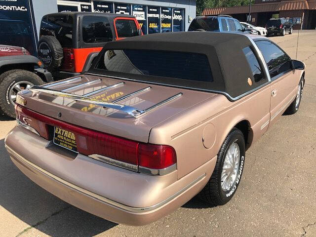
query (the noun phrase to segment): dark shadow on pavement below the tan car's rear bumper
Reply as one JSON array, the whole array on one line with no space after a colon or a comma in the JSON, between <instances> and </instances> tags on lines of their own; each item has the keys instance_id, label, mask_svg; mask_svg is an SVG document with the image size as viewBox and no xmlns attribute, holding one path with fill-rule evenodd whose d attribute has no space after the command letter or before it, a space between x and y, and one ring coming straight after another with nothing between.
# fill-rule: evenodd
<instances>
[{"instance_id":1,"label":"dark shadow on pavement below the tan car's rear bumper","mask_svg":"<svg viewBox=\"0 0 316 237\"><path fill-rule=\"evenodd\" d=\"M20 228L20 219L49 236L94 236L118 225L80 210L33 183L10 160L4 139L0 140L0 206L8 211L2 219L8 222L6 226L18 223Z\"/></svg>"}]
</instances>

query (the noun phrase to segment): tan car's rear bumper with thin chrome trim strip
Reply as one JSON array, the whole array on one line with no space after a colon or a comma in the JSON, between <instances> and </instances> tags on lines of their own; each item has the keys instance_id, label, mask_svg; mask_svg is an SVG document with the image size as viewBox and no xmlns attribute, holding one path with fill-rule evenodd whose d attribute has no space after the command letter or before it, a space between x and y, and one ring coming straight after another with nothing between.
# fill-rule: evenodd
<instances>
[{"instance_id":1,"label":"tan car's rear bumper with thin chrome trim strip","mask_svg":"<svg viewBox=\"0 0 316 237\"><path fill-rule=\"evenodd\" d=\"M215 157L177 180L177 171L160 177L141 174L82 155L69 159L45 144L20 126L5 139L14 164L40 187L94 215L135 226L154 222L194 197L216 162Z\"/></svg>"}]
</instances>

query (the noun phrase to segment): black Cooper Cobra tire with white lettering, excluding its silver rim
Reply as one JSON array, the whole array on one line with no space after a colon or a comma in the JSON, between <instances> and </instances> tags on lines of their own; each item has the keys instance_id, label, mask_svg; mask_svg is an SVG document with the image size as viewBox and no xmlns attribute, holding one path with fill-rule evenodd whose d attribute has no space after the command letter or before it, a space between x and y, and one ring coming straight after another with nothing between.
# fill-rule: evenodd
<instances>
[{"instance_id":1,"label":"black Cooper Cobra tire with white lettering, excluding its silver rim","mask_svg":"<svg viewBox=\"0 0 316 237\"><path fill-rule=\"evenodd\" d=\"M222 187L224 182L222 179L223 176L223 167L226 159L226 155L229 152L229 149L235 144L239 147L239 161L237 166L236 178L232 181L231 186L227 191L225 191ZM242 132L233 128L233 130L226 137L218 155L217 161L214 168L214 171L206 184L206 186L202 189L202 191L198 194L198 197L209 203L210 206L218 206L226 204L232 197L235 195L238 185L240 183L243 166L244 166L244 158L245 158L245 141ZM225 166L225 170L228 169ZM224 172L225 173L225 172ZM235 173L234 173L235 174Z\"/></svg>"}]
</instances>

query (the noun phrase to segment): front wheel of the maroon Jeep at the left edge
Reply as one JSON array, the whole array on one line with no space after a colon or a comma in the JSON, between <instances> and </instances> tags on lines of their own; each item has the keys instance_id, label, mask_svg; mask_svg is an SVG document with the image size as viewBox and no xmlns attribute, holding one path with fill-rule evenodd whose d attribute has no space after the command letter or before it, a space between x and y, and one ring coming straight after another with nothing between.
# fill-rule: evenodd
<instances>
[{"instance_id":1,"label":"front wheel of the maroon Jeep at the left edge","mask_svg":"<svg viewBox=\"0 0 316 237\"><path fill-rule=\"evenodd\" d=\"M41 85L44 82L35 73L26 70L10 70L0 75L0 109L1 111L15 118L14 104L16 94L31 87Z\"/></svg>"}]
</instances>

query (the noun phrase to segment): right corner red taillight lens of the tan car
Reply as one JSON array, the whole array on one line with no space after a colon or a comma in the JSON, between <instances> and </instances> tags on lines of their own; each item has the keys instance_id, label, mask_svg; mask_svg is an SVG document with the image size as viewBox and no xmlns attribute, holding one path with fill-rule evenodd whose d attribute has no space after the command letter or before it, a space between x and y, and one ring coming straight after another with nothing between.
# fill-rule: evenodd
<instances>
[{"instance_id":1,"label":"right corner red taillight lens of the tan car","mask_svg":"<svg viewBox=\"0 0 316 237\"><path fill-rule=\"evenodd\" d=\"M151 169L163 169L177 162L172 147L153 144L139 144L139 165Z\"/></svg>"}]
</instances>

